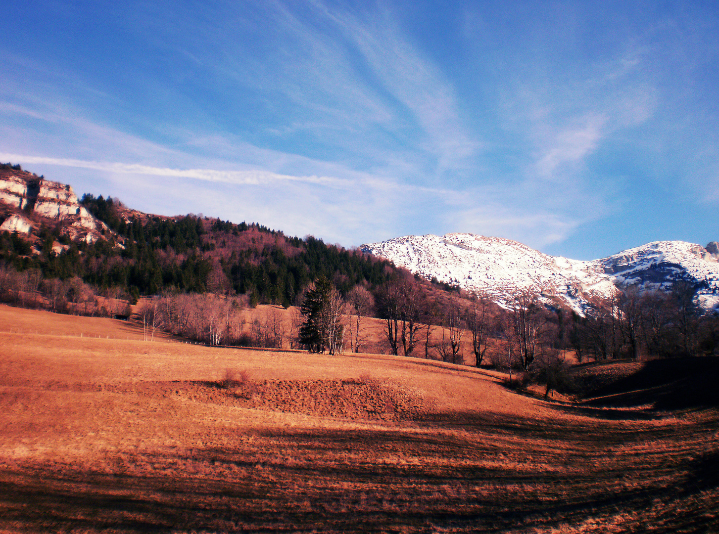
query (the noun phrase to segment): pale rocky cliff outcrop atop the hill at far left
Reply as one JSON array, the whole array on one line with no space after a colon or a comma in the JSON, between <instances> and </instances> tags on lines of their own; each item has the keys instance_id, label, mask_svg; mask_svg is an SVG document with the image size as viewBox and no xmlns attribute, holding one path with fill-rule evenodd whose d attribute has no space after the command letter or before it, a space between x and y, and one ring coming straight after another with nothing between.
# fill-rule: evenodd
<instances>
[{"instance_id":1,"label":"pale rocky cliff outcrop atop the hill at far left","mask_svg":"<svg viewBox=\"0 0 719 534\"><path fill-rule=\"evenodd\" d=\"M101 221L81 206L70 185L25 172L9 165L0 170L0 203L5 220L0 231L32 234L42 222L60 223L70 239L88 243L108 231ZM9 168L8 168L9 167Z\"/></svg>"}]
</instances>

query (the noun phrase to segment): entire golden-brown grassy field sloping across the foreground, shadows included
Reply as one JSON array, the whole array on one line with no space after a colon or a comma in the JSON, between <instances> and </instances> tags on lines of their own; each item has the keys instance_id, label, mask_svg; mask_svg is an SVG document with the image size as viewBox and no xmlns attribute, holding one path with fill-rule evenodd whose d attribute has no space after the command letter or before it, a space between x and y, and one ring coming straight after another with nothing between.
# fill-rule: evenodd
<instances>
[{"instance_id":1,"label":"entire golden-brown grassy field sloping across the foreground, shadows included","mask_svg":"<svg viewBox=\"0 0 719 534\"><path fill-rule=\"evenodd\" d=\"M0 325L0 532L719 531L714 408L544 402L471 367L6 306Z\"/></svg>"}]
</instances>

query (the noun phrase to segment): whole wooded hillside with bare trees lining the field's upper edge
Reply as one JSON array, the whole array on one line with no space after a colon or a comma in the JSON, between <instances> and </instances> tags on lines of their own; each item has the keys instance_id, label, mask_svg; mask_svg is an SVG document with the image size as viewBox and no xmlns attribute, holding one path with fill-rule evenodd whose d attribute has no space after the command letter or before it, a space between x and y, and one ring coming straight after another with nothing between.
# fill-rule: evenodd
<instances>
[{"instance_id":1,"label":"whole wooded hillside with bare trees lining the field's upper edge","mask_svg":"<svg viewBox=\"0 0 719 534\"><path fill-rule=\"evenodd\" d=\"M50 186L71 193L69 186ZM61 313L124 316L128 303L145 295L151 304L141 306L139 316L152 331L161 327L210 344L285 346L274 318L264 323L253 318L233 329L231 316L239 318L237 311L247 305L303 305L303 295L324 280L321 306L314 311L318 328L304 337L294 328L311 322L304 306L302 321L292 321L290 347L369 349L362 326L368 316L384 325L383 344L372 350L473 360L477 366L511 362L526 371L535 359L561 354L563 361L567 349L581 361L715 354L719 346L719 317L702 312L697 285L690 282L675 283L667 294L623 288L580 316L547 306L530 291L499 307L490 295L424 280L388 259L313 236L285 236L261 224L155 216L86 194L68 211L85 210L91 220L83 224L94 233L72 239L68 225L83 222L76 217L68 222L11 203L2 206L0 218L22 215L30 230L0 233L0 300ZM337 305L328 321L330 300ZM336 332L336 339L324 331ZM315 338L321 342L308 341Z\"/></svg>"}]
</instances>

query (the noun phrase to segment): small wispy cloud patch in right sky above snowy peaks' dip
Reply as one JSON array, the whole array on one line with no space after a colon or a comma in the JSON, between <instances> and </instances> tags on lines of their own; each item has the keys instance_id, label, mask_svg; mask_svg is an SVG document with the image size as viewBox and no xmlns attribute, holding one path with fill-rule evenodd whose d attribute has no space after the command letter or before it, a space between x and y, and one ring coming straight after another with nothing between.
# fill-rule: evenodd
<instances>
[{"instance_id":1,"label":"small wispy cloud patch in right sky above snowy peaks' dip","mask_svg":"<svg viewBox=\"0 0 719 534\"><path fill-rule=\"evenodd\" d=\"M544 208L572 218L567 229L620 208L617 177L590 167L592 158L615 137L651 119L656 89L641 76L641 50L592 68L562 73L551 83L551 63L537 62L503 89L505 127L526 145L522 182ZM592 206L587 217L582 206ZM552 217L548 216L551 220Z\"/></svg>"}]
</instances>

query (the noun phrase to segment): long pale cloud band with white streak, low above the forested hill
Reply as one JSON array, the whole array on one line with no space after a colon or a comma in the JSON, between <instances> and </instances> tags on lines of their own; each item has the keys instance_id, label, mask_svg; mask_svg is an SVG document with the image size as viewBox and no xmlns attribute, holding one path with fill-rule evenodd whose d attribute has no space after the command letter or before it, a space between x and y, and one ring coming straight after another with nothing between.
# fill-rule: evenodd
<instances>
[{"instance_id":1,"label":"long pale cloud band with white streak, low above the forested hill","mask_svg":"<svg viewBox=\"0 0 719 534\"><path fill-rule=\"evenodd\" d=\"M473 185L448 187L406 180L417 166L397 152L388 152L388 162L380 160L376 165L379 172L359 171L342 162L257 147L242 136L157 125L164 137L174 139L168 145L99 124L87 119L82 109L42 101L31 93L22 104L0 103L0 114L25 116L48 125L42 140L35 142L32 129L26 139L19 139L22 129L17 126L6 129L6 139L19 139L18 146L32 147L32 152L6 150L0 153L0 159L50 167L51 179L73 183L79 190L119 195L130 205L147 211L175 213L185 206L186 211L257 220L294 234L318 234L354 244L392 237L400 233L408 219L422 221L414 230L418 232L453 231L458 224L467 224L472 231L483 229L487 233L502 224L492 224L490 213L480 218L471 215L472 208L464 212L454 208L457 203L465 205L467 199L476 198L501 206L502 194L478 190ZM72 145L70 152L77 155L105 155L108 159L47 154L62 154L68 142ZM125 161L118 161L120 158ZM206 166L191 166L198 161L206 162ZM400 172L392 172L398 169ZM85 185L78 183L78 170L92 173L83 175L88 177ZM457 218L444 217L447 211ZM508 216L503 217L498 220L509 221ZM511 228L514 237L543 242L534 239L535 229L522 231L520 219L513 220L517 222Z\"/></svg>"}]
</instances>

